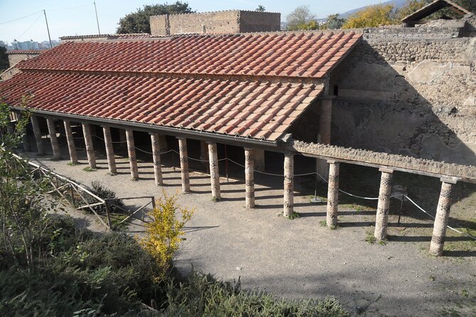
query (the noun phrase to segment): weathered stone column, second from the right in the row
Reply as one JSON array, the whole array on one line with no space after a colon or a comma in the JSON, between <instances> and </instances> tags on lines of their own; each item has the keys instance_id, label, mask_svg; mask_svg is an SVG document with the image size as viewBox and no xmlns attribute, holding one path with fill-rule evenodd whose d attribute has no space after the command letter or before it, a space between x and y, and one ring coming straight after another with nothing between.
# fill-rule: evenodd
<instances>
[{"instance_id":1,"label":"weathered stone column, second from the right in the row","mask_svg":"<svg viewBox=\"0 0 476 317\"><path fill-rule=\"evenodd\" d=\"M387 237L388 209L390 208L390 194L392 191L393 171L381 168L379 203L375 221L374 237L384 240Z\"/></svg>"}]
</instances>

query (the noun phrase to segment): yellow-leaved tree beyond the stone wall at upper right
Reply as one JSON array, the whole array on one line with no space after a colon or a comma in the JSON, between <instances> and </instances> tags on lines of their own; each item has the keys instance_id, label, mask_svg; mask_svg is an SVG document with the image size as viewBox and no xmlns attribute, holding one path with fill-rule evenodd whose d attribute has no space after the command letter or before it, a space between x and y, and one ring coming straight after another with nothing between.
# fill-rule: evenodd
<instances>
[{"instance_id":1,"label":"yellow-leaved tree beyond the stone wall at upper right","mask_svg":"<svg viewBox=\"0 0 476 317\"><path fill-rule=\"evenodd\" d=\"M352 14L342 28L376 28L395 24L392 4L377 4Z\"/></svg>"}]
</instances>

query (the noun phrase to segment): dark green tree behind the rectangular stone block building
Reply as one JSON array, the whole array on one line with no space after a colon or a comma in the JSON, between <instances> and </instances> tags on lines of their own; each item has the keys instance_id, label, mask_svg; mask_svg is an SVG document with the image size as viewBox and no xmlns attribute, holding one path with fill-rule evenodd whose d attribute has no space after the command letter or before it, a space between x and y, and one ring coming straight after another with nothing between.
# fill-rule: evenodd
<instances>
[{"instance_id":1,"label":"dark green tree behind the rectangular stone block building","mask_svg":"<svg viewBox=\"0 0 476 317\"><path fill-rule=\"evenodd\" d=\"M151 16L161 14L191 14L194 13L186 2L176 1L175 4L154 4L138 8L137 12L127 14L119 20L117 33L150 33Z\"/></svg>"}]
</instances>

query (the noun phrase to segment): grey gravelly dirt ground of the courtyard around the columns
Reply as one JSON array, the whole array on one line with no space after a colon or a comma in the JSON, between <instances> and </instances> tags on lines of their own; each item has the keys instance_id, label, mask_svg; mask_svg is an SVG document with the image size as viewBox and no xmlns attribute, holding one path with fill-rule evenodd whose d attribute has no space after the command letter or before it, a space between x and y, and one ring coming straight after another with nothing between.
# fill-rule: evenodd
<instances>
[{"instance_id":1,"label":"grey gravelly dirt ground of the courtyard around the columns","mask_svg":"<svg viewBox=\"0 0 476 317\"><path fill-rule=\"evenodd\" d=\"M63 158L68 158L62 149ZM162 190L180 190L180 172L164 155L164 183L154 186L152 156L139 161L139 181L131 181L129 162L117 156L118 175L107 174L104 151L97 151L97 171L84 171L84 151L80 165L68 166L67 159L52 161L51 156L23 154L75 181L90 185L100 181L119 197L155 195ZM191 154L189 154L191 155ZM140 157L139 157L140 158ZM176 159L175 159L176 160ZM312 161L296 161L296 170L312 169ZM276 166L280 161L275 162ZM267 171L273 164L267 166ZM314 178L295 178L295 211L299 217L288 220L282 213L282 178L255 174L257 206L244 205L243 180L221 178L222 200L211 200L210 179L206 173L191 173L192 193L180 195L179 203L196 207L186 227L186 241L175 264L182 272L191 267L209 272L225 281L240 278L243 289L268 291L275 296L323 298L335 296L355 316L476 316L476 243L448 230L445 256L428 252L433 221L409 203L403 204L401 224L397 226L400 203L391 203L386 244L371 244L376 201L358 200L339 194L339 227L322 225L326 203L312 203ZM438 180L396 173L394 183L404 183L423 208L434 215L438 203ZM475 230L476 186L458 185L457 201L450 225ZM378 195L379 173L371 168L344 166L341 188L358 195ZM325 196L327 187L319 183L317 194ZM144 200L129 200L131 208ZM81 217L75 213L73 217ZM90 215L86 227L98 224ZM100 226L99 226L100 227ZM128 231L140 234L140 221Z\"/></svg>"}]
</instances>

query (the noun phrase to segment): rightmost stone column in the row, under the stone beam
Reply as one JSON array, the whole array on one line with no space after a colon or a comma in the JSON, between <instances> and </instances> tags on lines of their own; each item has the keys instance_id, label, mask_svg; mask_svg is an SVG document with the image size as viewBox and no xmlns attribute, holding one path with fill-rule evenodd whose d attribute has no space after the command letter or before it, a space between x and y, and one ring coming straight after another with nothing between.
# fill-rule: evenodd
<instances>
[{"instance_id":1,"label":"rightmost stone column in the row, under the stone beam","mask_svg":"<svg viewBox=\"0 0 476 317\"><path fill-rule=\"evenodd\" d=\"M431 237L430 243L430 252L438 256L443 254L443 246L445 245L446 227L448 226L448 218L450 217L452 190L453 183L442 180L440 199L438 200L435 224L433 225L433 236Z\"/></svg>"}]
</instances>

